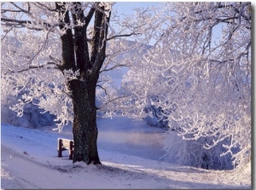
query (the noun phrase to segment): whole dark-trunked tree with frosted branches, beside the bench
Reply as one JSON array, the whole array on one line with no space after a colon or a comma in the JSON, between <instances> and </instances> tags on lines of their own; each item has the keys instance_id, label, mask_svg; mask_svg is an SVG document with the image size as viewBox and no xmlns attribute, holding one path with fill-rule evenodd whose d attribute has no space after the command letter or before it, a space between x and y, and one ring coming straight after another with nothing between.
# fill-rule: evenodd
<instances>
[{"instance_id":1,"label":"whole dark-trunked tree with frosted branches, beside the bench","mask_svg":"<svg viewBox=\"0 0 256 190\"><path fill-rule=\"evenodd\" d=\"M112 7L113 3L1 3L2 92L5 97L20 95L12 107L20 116L32 103L56 116L58 130L72 122L73 162L101 164L96 110L112 97L105 88L108 75L100 74L129 65L135 57L126 53L138 47L148 27L143 19L148 17L146 9L129 18ZM139 18L136 22L134 16ZM125 37L138 43L127 45ZM106 94L97 101L100 105L96 89Z\"/></svg>"}]
</instances>

